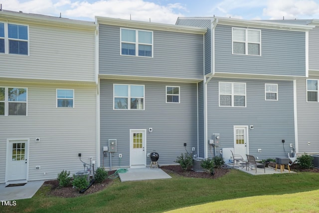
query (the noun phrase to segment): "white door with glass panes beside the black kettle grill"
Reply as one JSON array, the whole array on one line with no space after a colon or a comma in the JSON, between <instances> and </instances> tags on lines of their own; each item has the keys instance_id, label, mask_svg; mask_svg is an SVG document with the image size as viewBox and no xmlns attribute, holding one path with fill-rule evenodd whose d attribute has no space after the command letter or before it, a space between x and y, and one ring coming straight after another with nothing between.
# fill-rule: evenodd
<instances>
[{"instance_id":1,"label":"white door with glass panes beside the black kettle grill","mask_svg":"<svg viewBox=\"0 0 319 213\"><path fill-rule=\"evenodd\" d=\"M146 129L130 130L130 166L146 167Z\"/></svg>"}]
</instances>

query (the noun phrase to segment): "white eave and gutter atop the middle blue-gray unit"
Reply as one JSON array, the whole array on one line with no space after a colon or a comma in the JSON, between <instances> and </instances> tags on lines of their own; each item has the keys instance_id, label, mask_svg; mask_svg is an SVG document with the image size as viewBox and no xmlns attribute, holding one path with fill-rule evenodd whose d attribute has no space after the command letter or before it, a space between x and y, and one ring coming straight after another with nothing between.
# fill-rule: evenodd
<instances>
[{"instance_id":1,"label":"white eave and gutter atop the middle blue-gray unit","mask_svg":"<svg viewBox=\"0 0 319 213\"><path fill-rule=\"evenodd\" d=\"M192 27L192 26L181 26L175 24L155 23L147 21L127 20L121 18L109 18L102 16L95 16L96 23L109 24L123 27L134 27L150 30L162 30L171 32L183 32L183 33L194 33L194 34L205 34L207 28L203 27Z\"/></svg>"}]
</instances>

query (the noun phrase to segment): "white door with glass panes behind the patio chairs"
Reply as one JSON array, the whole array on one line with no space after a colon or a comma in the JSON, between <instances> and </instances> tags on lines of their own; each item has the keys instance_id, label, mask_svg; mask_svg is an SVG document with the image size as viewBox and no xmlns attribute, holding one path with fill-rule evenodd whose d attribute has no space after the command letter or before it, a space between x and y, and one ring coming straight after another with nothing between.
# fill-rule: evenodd
<instances>
[{"instance_id":1,"label":"white door with glass panes behind the patio chairs","mask_svg":"<svg viewBox=\"0 0 319 213\"><path fill-rule=\"evenodd\" d=\"M248 126L234 126L234 154L246 159L248 153Z\"/></svg>"}]
</instances>

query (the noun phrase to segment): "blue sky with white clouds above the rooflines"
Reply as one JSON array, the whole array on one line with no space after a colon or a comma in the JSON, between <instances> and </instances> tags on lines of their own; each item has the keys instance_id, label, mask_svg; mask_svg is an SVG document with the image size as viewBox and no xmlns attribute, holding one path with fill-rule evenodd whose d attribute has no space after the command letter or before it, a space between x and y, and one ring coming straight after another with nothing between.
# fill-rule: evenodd
<instances>
[{"instance_id":1,"label":"blue sky with white clouds above the rooflines","mask_svg":"<svg viewBox=\"0 0 319 213\"><path fill-rule=\"evenodd\" d=\"M2 9L94 21L94 16L174 24L177 17L319 19L319 0L0 0Z\"/></svg>"}]
</instances>

